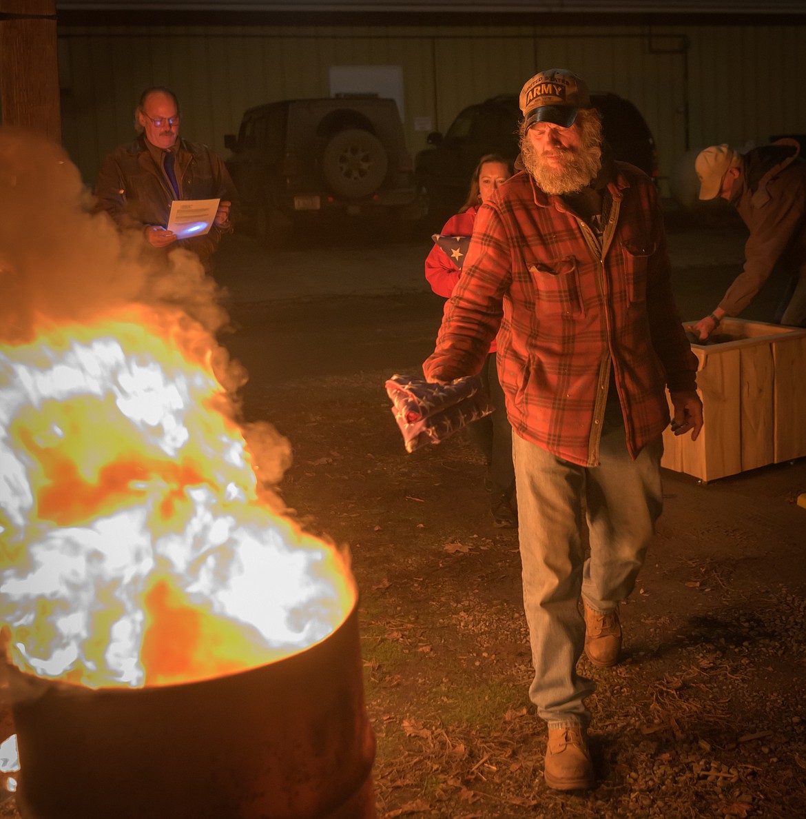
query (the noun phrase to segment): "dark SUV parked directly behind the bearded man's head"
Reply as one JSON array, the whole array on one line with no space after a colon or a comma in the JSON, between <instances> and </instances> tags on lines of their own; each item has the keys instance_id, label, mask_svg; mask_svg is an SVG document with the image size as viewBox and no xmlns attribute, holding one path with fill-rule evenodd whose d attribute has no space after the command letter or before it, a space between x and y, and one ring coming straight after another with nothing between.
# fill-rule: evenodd
<instances>
[{"instance_id":1,"label":"dark SUV parked directly behind the bearded man's head","mask_svg":"<svg viewBox=\"0 0 806 819\"><path fill-rule=\"evenodd\" d=\"M631 162L656 179L655 140L633 103L610 93L592 93L591 102L601 113L602 131L615 159ZM432 229L441 228L462 206L471 174L484 154L515 159L520 119L518 97L501 94L465 108L444 137L439 132L428 135L432 147L417 154L415 168L430 201Z\"/></svg>"}]
</instances>

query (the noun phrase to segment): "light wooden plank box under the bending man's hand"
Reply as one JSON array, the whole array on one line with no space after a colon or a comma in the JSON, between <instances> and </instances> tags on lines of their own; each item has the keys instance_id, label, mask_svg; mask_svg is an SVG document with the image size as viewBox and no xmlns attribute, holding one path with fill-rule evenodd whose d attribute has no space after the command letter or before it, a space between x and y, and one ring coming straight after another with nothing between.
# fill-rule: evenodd
<instances>
[{"instance_id":1,"label":"light wooden plank box under the bending man's hand","mask_svg":"<svg viewBox=\"0 0 806 819\"><path fill-rule=\"evenodd\" d=\"M691 345L705 425L667 428L661 466L707 482L806 455L806 329L723 319L714 336L732 340Z\"/></svg>"}]
</instances>

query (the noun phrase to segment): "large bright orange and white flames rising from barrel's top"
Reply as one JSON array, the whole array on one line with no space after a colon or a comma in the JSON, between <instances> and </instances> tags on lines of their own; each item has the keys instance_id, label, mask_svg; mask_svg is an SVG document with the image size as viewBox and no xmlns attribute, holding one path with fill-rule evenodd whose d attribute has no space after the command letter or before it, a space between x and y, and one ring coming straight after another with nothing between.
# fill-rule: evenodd
<instances>
[{"instance_id":1,"label":"large bright orange and white flames rising from barrel's top","mask_svg":"<svg viewBox=\"0 0 806 819\"><path fill-rule=\"evenodd\" d=\"M0 346L0 621L24 671L200 680L323 640L346 558L272 512L215 342L129 306Z\"/></svg>"}]
</instances>

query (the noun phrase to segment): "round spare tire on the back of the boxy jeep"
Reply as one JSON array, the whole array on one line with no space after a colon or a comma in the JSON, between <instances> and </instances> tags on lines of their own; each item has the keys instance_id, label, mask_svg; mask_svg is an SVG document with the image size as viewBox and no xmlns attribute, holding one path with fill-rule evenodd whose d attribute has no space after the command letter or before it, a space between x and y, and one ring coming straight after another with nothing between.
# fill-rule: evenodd
<instances>
[{"instance_id":1,"label":"round spare tire on the back of the boxy jeep","mask_svg":"<svg viewBox=\"0 0 806 819\"><path fill-rule=\"evenodd\" d=\"M322 176L336 196L361 199L386 178L389 156L374 133L358 128L335 133L322 153Z\"/></svg>"}]
</instances>

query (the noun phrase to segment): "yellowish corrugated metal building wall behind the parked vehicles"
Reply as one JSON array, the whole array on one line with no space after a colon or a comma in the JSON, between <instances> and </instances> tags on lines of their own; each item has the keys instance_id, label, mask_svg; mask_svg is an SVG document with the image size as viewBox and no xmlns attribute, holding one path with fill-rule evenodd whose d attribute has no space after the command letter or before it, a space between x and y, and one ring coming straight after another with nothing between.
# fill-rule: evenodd
<instances>
[{"instance_id":1,"label":"yellowish corrugated metal building wall behind the parked vehicles","mask_svg":"<svg viewBox=\"0 0 806 819\"><path fill-rule=\"evenodd\" d=\"M472 102L517 92L534 70L570 67L634 102L655 133L661 176L687 147L806 133L806 26L154 27L60 29L63 140L92 183L132 137L152 84L182 100L182 134L222 155L245 108L328 96L331 66L402 66L406 138L448 127Z\"/></svg>"}]
</instances>

